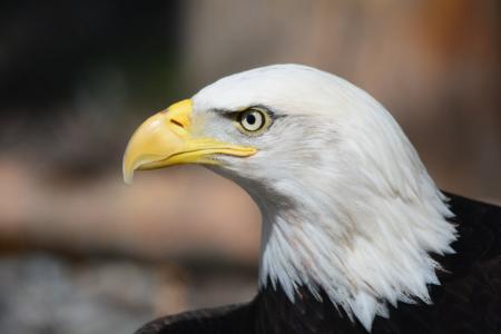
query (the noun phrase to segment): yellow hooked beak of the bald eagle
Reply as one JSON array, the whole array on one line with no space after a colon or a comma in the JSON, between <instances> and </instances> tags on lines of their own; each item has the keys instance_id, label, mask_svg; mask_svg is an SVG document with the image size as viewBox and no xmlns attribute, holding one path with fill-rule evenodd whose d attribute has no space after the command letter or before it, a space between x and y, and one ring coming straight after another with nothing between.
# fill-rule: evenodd
<instances>
[{"instance_id":1,"label":"yellow hooked beak of the bald eagle","mask_svg":"<svg viewBox=\"0 0 501 334\"><path fill-rule=\"evenodd\" d=\"M219 164L214 155L248 157L254 147L194 138L190 134L191 100L171 105L148 118L134 132L124 155L124 180L132 181L136 169L155 169L178 164Z\"/></svg>"}]
</instances>

